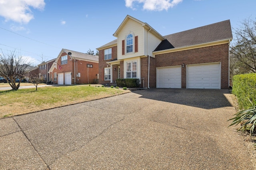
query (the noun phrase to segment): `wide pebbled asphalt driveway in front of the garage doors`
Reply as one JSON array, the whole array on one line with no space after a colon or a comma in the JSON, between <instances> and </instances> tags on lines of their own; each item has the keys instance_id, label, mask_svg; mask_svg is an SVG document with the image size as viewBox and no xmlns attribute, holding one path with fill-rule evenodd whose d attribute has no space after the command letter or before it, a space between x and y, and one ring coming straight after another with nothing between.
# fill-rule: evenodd
<instances>
[{"instance_id":1,"label":"wide pebbled asphalt driveway in front of the garage doors","mask_svg":"<svg viewBox=\"0 0 256 170\"><path fill-rule=\"evenodd\" d=\"M0 169L255 169L228 90L146 89L0 119Z\"/></svg>"}]
</instances>

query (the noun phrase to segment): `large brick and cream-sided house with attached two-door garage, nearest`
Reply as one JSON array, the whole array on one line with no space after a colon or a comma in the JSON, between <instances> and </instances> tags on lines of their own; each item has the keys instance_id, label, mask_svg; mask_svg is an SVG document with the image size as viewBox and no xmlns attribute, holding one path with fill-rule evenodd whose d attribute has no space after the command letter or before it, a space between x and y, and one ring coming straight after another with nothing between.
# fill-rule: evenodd
<instances>
[{"instance_id":1,"label":"large brick and cream-sided house with attached two-door garage, nearest","mask_svg":"<svg viewBox=\"0 0 256 170\"><path fill-rule=\"evenodd\" d=\"M99 51L99 83L138 78L147 88L229 87L230 20L160 35L129 15Z\"/></svg>"}]
</instances>

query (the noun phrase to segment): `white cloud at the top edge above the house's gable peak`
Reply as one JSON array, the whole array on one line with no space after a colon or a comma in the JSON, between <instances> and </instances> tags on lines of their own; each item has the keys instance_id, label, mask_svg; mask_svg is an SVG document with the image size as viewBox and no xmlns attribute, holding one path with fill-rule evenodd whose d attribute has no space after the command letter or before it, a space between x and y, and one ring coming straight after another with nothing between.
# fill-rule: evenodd
<instances>
[{"instance_id":1,"label":"white cloud at the top edge above the house's gable peak","mask_svg":"<svg viewBox=\"0 0 256 170\"><path fill-rule=\"evenodd\" d=\"M150 11L162 11L168 10L169 8L174 7L175 5L182 2L182 0L125 0L125 6L128 8L132 8L134 3L143 3L143 10L150 10Z\"/></svg>"}]
</instances>

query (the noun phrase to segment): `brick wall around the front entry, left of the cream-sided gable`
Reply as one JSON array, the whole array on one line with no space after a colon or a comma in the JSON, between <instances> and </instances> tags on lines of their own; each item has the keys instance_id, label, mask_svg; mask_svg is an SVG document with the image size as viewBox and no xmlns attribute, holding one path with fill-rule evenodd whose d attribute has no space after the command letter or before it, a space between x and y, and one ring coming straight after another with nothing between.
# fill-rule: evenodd
<instances>
[{"instance_id":1,"label":"brick wall around the front entry, left of the cream-sided gable","mask_svg":"<svg viewBox=\"0 0 256 170\"><path fill-rule=\"evenodd\" d=\"M112 48L112 59L104 60L104 50L99 50L99 84L110 84L110 80L105 81L104 80L104 68L110 67L107 62L117 59L117 46L111 47ZM109 49L109 48L106 48ZM116 68L116 70L114 70ZM117 78L117 65L113 65L112 69L112 75L113 75L113 83L115 82ZM121 76L121 71L120 71Z\"/></svg>"}]
</instances>

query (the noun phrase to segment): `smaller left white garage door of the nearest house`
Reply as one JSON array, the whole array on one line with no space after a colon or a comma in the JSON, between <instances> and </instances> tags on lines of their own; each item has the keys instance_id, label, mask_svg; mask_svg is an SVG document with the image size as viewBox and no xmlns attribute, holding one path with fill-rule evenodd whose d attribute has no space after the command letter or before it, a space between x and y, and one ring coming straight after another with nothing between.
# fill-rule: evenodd
<instances>
[{"instance_id":1,"label":"smaller left white garage door of the nearest house","mask_svg":"<svg viewBox=\"0 0 256 170\"><path fill-rule=\"evenodd\" d=\"M156 76L156 88L181 88L181 66L157 68Z\"/></svg>"}]
</instances>

